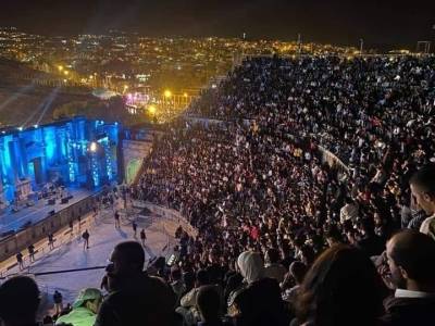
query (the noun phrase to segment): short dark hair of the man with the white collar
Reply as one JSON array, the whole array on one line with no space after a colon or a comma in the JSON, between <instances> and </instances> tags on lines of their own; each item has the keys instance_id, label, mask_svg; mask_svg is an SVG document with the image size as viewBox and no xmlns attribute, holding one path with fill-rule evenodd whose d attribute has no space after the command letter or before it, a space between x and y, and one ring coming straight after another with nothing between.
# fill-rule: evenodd
<instances>
[{"instance_id":1,"label":"short dark hair of the man with the white collar","mask_svg":"<svg viewBox=\"0 0 435 326\"><path fill-rule=\"evenodd\" d=\"M417 230L402 230L391 239L390 259L415 281L435 281L435 241Z\"/></svg>"}]
</instances>

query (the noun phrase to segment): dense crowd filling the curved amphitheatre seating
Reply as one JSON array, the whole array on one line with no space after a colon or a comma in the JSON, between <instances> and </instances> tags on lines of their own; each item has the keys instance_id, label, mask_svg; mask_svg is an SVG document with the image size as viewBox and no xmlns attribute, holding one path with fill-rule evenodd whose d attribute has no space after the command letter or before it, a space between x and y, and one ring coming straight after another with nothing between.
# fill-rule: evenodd
<instances>
[{"instance_id":1,"label":"dense crowd filling the curved amphitheatre seating","mask_svg":"<svg viewBox=\"0 0 435 326\"><path fill-rule=\"evenodd\" d=\"M129 190L198 237L179 228L178 260L146 273L142 247L117 244L109 296L85 304L95 325L433 325L434 64L256 58L231 72L190 108L211 120L172 124Z\"/></svg>"}]
</instances>

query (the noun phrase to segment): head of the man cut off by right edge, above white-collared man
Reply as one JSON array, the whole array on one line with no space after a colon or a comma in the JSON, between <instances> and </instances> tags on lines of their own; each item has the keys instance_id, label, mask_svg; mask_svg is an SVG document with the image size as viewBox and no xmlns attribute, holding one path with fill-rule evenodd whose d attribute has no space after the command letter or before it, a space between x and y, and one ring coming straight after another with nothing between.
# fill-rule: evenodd
<instances>
[{"instance_id":1,"label":"head of the man cut off by right edge, above white-collared man","mask_svg":"<svg viewBox=\"0 0 435 326\"><path fill-rule=\"evenodd\" d=\"M430 164L415 172L409 180L417 204L428 215L435 213L435 165Z\"/></svg>"}]
</instances>

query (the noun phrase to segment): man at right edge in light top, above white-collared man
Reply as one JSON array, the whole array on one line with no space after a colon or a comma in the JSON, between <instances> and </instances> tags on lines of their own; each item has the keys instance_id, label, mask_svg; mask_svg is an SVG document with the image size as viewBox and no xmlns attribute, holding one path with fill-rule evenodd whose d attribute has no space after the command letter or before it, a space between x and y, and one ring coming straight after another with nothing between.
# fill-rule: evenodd
<instances>
[{"instance_id":1,"label":"man at right edge in light top, above white-collared man","mask_svg":"<svg viewBox=\"0 0 435 326\"><path fill-rule=\"evenodd\" d=\"M430 216L423 221L420 231L435 239L435 165L420 168L409 184L417 204Z\"/></svg>"}]
</instances>

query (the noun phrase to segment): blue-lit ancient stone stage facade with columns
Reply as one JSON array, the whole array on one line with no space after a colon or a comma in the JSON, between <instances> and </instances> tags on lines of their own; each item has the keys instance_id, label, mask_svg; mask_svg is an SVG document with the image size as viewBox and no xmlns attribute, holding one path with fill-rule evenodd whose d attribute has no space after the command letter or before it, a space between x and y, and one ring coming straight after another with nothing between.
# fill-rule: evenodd
<instances>
[{"instance_id":1,"label":"blue-lit ancient stone stage facade with columns","mask_svg":"<svg viewBox=\"0 0 435 326\"><path fill-rule=\"evenodd\" d=\"M92 189L117 179L121 125L75 117L0 134L0 201L25 200L47 183Z\"/></svg>"}]
</instances>

